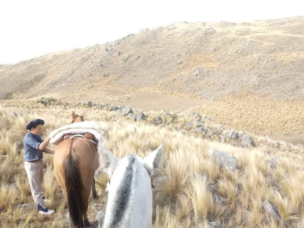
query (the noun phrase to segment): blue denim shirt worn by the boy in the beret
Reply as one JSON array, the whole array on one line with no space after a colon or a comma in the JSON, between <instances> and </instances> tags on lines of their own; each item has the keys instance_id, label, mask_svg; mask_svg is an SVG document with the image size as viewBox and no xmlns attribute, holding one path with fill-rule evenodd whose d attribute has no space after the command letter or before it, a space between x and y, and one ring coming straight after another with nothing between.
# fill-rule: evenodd
<instances>
[{"instance_id":1,"label":"blue denim shirt worn by the boy in the beret","mask_svg":"<svg viewBox=\"0 0 304 228\"><path fill-rule=\"evenodd\" d=\"M41 136L38 135L40 138ZM37 140L31 136L29 133L26 133L23 139L23 145L24 145L24 159L25 161L35 161L42 159L43 152L42 150L39 150L38 147L40 145Z\"/></svg>"}]
</instances>

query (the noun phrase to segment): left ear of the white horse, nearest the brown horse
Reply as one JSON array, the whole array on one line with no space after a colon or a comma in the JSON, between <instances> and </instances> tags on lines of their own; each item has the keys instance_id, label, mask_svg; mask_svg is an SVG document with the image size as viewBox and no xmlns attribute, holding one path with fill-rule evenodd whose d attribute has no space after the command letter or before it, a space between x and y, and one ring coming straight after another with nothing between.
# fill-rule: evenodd
<instances>
[{"instance_id":1,"label":"left ear of the white horse, nearest the brown horse","mask_svg":"<svg viewBox=\"0 0 304 228\"><path fill-rule=\"evenodd\" d=\"M98 149L99 155L99 166L103 172L107 172L109 176L116 168L117 158L114 157L107 148L101 143L98 142Z\"/></svg>"}]
</instances>

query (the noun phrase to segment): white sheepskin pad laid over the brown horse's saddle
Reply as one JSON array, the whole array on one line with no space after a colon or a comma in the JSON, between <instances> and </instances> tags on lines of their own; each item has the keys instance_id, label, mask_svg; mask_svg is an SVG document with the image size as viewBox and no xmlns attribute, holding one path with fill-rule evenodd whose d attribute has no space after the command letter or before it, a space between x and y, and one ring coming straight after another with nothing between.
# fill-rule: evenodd
<instances>
[{"instance_id":1,"label":"white sheepskin pad laid over the brown horse's saddle","mask_svg":"<svg viewBox=\"0 0 304 228\"><path fill-rule=\"evenodd\" d=\"M93 121L84 121L80 123L72 123L63 127L60 127L50 133L50 143L54 145L58 145L61 141L63 141L63 136L65 134L82 134L91 133L94 135L94 141L102 142L104 140L103 135L105 132L101 130L97 123Z\"/></svg>"}]
</instances>

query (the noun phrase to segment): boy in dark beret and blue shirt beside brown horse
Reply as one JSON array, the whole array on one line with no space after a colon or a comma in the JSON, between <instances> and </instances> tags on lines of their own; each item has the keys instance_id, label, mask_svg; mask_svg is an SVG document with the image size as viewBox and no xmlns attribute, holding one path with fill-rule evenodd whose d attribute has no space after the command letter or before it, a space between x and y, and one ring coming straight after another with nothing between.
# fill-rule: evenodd
<instances>
[{"instance_id":1,"label":"boy in dark beret and blue shirt beside brown horse","mask_svg":"<svg viewBox=\"0 0 304 228\"><path fill-rule=\"evenodd\" d=\"M29 179L29 185L31 186L31 192L34 202L38 204L39 213L50 215L55 211L47 209L43 196L43 152L47 154L54 154L54 150L47 149L47 145L50 142L50 137L42 141L39 135L42 129L44 121L42 119L34 119L26 125L28 133L24 136L24 168Z\"/></svg>"}]
</instances>

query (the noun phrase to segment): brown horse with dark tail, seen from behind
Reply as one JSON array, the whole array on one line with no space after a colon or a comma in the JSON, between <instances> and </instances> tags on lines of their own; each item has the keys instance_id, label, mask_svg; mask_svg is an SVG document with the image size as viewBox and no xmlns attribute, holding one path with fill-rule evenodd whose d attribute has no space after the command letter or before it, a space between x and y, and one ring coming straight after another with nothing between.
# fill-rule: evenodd
<instances>
[{"instance_id":1,"label":"brown horse with dark tail, seen from behind","mask_svg":"<svg viewBox=\"0 0 304 228\"><path fill-rule=\"evenodd\" d=\"M84 121L72 112L71 123ZM71 223L74 227L90 226L87 216L88 198L98 199L94 174L99 166L98 154L92 141L73 137L60 142L54 154L54 173L67 199Z\"/></svg>"}]
</instances>

